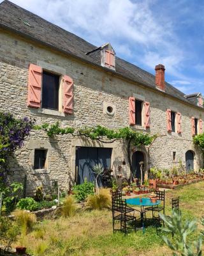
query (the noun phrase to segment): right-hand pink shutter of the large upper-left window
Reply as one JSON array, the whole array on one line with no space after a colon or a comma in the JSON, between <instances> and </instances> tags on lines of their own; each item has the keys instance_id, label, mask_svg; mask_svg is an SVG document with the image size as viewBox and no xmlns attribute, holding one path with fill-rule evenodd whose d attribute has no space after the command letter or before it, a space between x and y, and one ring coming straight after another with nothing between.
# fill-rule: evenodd
<instances>
[{"instance_id":1,"label":"right-hand pink shutter of the large upper-left window","mask_svg":"<svg viewBox=\"0 0 204 256\"><path fill-rule=\"evenodd\" d=\"M63 111L64 113L73 113L73 80L69 76L63 76Z\"/></svg>"}]
</instances>

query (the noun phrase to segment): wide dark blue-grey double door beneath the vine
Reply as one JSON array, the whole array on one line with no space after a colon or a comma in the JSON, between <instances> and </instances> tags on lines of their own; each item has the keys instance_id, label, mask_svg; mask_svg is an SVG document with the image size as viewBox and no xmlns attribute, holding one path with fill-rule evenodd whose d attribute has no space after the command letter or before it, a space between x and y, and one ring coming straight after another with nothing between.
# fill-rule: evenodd
<instances>
[{"instance_id":1,"label":"wide dark blue-grey double door beneath the vine","mask_svg":"<svg viewBox=\"0 0 204 256\"><path fill-rule=\"evenodd\" d=\"M111 168L112 148L77 147L76 148L76 182L77 184L95 181L92 168L101 164L103 170ZM103 179L98 179L99 186L103 186Z\"/></svg>"}]
</instances>

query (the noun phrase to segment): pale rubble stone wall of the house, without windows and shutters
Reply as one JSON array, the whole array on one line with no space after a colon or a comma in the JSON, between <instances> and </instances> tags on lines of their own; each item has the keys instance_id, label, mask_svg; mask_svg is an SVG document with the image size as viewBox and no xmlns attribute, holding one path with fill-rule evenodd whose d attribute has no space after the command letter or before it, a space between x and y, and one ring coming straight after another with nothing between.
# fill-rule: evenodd
<instances>
[{"instance_id":1,"label":"pale rubble stone wall of the house, without windows and shutters","mask_svg":"<svg viewBox=\"0 0 204 256\"><path fill-rule=\"evenodd\" d=\"M34 109L27 107L28 65L45 65L50 71L56 71L72 77L74 82L73 115L58 111ZM194 169L202 167L202 156L194 148L191 135L191 117L204 120L203 108L198 108L182 100L175 99L159 90L153 90L122 79L117 74L89 65L73 57L53 51L51 48L25 40L14 33L0 29L0 109L10 111L13 115L30 116L36 119L36 124L61 122L62 127L82 127L104 125L119 128L129 125L128 98L136 97L150 102L150 128L136 126L138 131L159 134L159 137L147 148L145 168L171 168L173 164L185 165L186 152L194 152ZM106 106L112 106L113 114L108 115ZM168 133L166 129L166 109L180 112L182 115L182 132ZM36 186L49 186L52 180L58 180L62 189L68 189L75 182L76 146L111 147L112 167L117 173L122 165L122 172L128 177L129 166L124 145L117 141L110 145L96 141L84 141L71 135L57 136L50 140L43 131L32 131L25 141L24 147L17 150L10 164L10 178L23 182L27 175L27 193L32 193ZM33 170L34 148L47 148L47 170ZM173 161L173 152L176 152Z\"/></svg>"}]
</instances>

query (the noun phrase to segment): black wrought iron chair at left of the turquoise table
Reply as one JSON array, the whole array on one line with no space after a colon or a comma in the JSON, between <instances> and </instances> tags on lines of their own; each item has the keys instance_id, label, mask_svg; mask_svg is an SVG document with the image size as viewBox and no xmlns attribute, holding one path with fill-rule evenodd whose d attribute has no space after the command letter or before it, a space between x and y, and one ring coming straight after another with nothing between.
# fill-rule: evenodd
<instances>
[{"instance_id":1,"label":"black wrought iron chair at left of the turquoise table","mask_svg":"<svg viewBox=\"0 0 204 256\"><path fill-rule=\"evenodd\" d=\"M113 233L115 231L128 233L128 228L134 228L136 232L136 217L134 216L135 209L129 207L124 200L122 200L122 192L112 192L112 216L113 216ZM130 213L133 213L131 215ZM115 221L120 222L120 228L115 228ZM132 223L133 227L128 224Z\"/></svg>"}]
</instances>

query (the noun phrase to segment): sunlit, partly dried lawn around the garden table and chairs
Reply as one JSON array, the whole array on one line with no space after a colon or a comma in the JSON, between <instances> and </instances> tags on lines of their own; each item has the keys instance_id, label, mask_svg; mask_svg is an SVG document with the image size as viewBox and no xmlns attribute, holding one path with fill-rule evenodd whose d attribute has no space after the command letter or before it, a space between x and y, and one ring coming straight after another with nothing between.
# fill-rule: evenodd
<instances>
[{"instance_id":1,"label":"sunlit, partly dried lawn around the garden table and chairs","mask_svg":"<svg viewBox=\"0 0 204 256\"><path fill-rule=\"evenodd\" d=\"M184 219L201 218L204 204L204 182L184 186L166 192L166 214L171 212L170 198L180 196L180 209ZM201 226L200 226L201 227ZM40 232L39 230L44 230ZM163 233L164 234L164 233ZM198 232L190 239L195 239ZM174 239L177 239L175 236ZM124 236L119 232L113 235L112 212L81 210L71 218L44 220L25 238L25 246L31 255L72 255L72 256L163 256L171 255L164 245L161 233L146 228L145 234L137 231Z\"/></svg>"}]
</instances>

